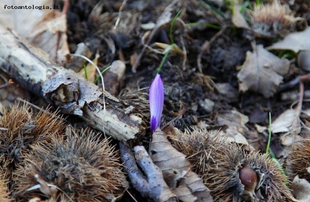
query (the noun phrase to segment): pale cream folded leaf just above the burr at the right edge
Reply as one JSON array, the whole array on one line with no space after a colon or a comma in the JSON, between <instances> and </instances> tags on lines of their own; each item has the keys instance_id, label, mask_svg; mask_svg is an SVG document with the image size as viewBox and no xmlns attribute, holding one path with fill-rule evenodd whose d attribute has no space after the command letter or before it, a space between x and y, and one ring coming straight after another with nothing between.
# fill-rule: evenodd
<instances>
[{"instance_id":1,"label":"pale cream folded leaf just above the burr at the right edge","mask_svg":"<svg viewBox=\"0 0 310 202\"><path fill-rule=\"evenodd\" d=\"M300 137L300 119L298 112L293 109L286 110L280 116L272 122L271 131L273 133L285 132L280 137L283 145L291 145L293 142L298 141Z\"/></svg>"}]
</instances>

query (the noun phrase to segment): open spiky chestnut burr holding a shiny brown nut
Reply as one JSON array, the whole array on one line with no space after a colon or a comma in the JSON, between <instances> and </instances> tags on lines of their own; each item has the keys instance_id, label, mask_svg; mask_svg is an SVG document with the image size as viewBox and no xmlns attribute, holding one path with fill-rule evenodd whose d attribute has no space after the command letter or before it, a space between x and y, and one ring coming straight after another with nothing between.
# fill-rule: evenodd
<instances>
[{"instance_id":1,"label":"open spiky chestnut burr holding a shiny brown nut","mask_svg":"<svg viewBox=\"0 0 310 202\"><path fill-rule=\"evenodd\" d=\"M211 190L214 201L285 201L289 189L276 163L267 154L248 152L227 136L207 130L170 135Z\"/></svg>"}]
</instances>

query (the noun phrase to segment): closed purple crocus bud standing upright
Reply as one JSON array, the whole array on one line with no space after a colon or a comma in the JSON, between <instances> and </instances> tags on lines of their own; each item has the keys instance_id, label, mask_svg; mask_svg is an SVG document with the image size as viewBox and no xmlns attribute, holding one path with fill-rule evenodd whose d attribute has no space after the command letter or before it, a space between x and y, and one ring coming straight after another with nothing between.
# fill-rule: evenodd
<instances>
[{"instance_id":1,"label":"closed purple crocus bud standing upright","mask_svg":"<svg viewBox=\"0 0 310 202\"><path fill-rule=\"evenodd\" d=\"M161 126L161 113L163 112L163 81L157 74L149 88L149 108L151 110L151 134Z\"/></svg>"}]
</instances>

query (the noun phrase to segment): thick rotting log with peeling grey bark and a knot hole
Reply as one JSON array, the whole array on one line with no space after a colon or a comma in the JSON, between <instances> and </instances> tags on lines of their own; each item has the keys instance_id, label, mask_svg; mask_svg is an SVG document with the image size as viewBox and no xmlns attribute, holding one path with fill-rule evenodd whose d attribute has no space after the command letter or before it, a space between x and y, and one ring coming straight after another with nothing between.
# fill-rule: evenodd
<instances>
[{"instance_id":1,"label":"thick rotting log with peeling grey bark and a knot hole","mask_svg":"<svg viewBox=\"0 0 310 202\"><path fill-rule=\"evenodd\" d=\"M41 49L0 26L0 68L23 88L65 114L75 114L115 139L135 139L145 121L134 107L102 92L72 70L55 65ZM103 96L105 97L105 110Z\"/></svg>"}]
</instances>

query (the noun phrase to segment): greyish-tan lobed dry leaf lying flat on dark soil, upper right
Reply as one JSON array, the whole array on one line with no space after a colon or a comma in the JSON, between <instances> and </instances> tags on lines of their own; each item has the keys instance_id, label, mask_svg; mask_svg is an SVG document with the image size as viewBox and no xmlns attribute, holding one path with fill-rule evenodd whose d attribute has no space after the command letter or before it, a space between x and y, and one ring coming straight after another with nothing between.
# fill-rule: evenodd
<instances>
[{"instance_id":1,"label":"greyish-tan lobed dry leaf lying flat on dark soil, upper right","mask_svg":"<svg viewBox=\"0 0 310 202\"><path fill-rule=\"evenodd\" d=\"M282 75L289 70L289 61L279 59L276 55L258 45L256 51L247 52L247 58L238 72L239 90L253 90L262 93L266 98L273 96Z\"/></svg>"}]
</instances>

